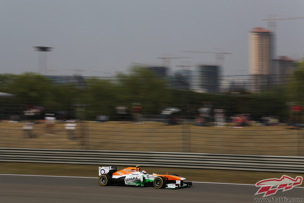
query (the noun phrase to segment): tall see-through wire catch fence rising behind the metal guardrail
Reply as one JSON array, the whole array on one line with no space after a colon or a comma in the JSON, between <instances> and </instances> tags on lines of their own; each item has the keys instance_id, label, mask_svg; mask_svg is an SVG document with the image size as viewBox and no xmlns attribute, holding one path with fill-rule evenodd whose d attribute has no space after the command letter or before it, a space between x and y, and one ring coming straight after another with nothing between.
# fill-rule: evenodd
<instances>
[{"instance_id":1,"label":"tall see-through wire catch fence rising behind the metal guardrail","mask_svg":"<svg viewBox=\"0 0 304 203\"><path fill-rule=\"evenodd\" d=\"M0 147L304 156L301 89L229 77L11 78Z\"/></svg>"}]
</instances>

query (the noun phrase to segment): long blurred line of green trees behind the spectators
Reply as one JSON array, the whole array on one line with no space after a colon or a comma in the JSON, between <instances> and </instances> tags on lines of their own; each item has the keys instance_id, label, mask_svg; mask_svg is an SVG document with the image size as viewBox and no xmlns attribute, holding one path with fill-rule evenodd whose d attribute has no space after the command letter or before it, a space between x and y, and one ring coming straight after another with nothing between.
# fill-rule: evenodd
<instances>
[{"instance_id":1,"label":"long blurred line of green trees behind the spectators","mask_svg":"<svg viewBox=\"0 0 304 203\"><path fill-rule=\"evenodd\" d=\"M132 103L141 103L143 113L147 115L159 114L161 106L166 104L180 108L181 114L187 116L189 106L199 108L204 102L210 102L213 108L224 109L227 115L243 113L255 119L263 115L288 118L288 102L302 106L304 102L304 63L298 62L297 67L288 84L269 87L259 93L239 90L239 94L173 89L168 85L168 79L158 77L140 65L131 67L128 73L118 72L116 77L109 79L83 77L81 86L79 82L58 83L32 72L0 74L0 92L15 95L0 98L0 111L3 115L22 115L26 105L33 105L44 107L48 113L67 111L71 118L76 118L79 108L83 108L86 119L93 120L102 113L115 120L118 104L131 109Z\"/></svg>"}]
</instances>

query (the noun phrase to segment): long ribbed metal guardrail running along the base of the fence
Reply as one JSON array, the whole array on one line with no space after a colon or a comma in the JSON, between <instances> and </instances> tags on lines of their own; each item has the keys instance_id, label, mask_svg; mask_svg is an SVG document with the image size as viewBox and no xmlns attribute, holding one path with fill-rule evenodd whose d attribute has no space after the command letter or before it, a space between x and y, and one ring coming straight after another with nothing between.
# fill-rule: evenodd
<instances>
[{"instance_id":1,"label":"long ribbed metal guardrail running along the base of the fence","mask_svg":"<svg viewBox=\"0 0 304 203\"><path fill-rule=\"evenodd\" d=\"M0 148L0 161L304 173L299 156Z\"/></svg>"}]
</instances>

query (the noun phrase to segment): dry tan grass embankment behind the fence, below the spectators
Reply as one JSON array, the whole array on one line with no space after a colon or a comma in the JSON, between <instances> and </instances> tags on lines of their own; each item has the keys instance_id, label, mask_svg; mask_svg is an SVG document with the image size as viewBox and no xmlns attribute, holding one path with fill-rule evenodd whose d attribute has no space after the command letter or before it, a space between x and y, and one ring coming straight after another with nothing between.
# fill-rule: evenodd
<instances>
[{"instance_id":1,"label":"dry tan grass embankment behind the fence, below the spectators","mask_svg":"<svg viewBox=\"0 0 304 203\"><path fill-rule=\"evenodd\" d=\"M286 126L234 129L158 122L86 121L77 124L76 140L68 139L64 123L56 123L55 135L45 134L44 123L36 124L36 138L27 138L22 126L23 123L0 122L0 147L304 155L302 130ZM80 138L82 135L85 137ZM81 145L83 143L85 145Z\"/></svg>"}]
</instances>

